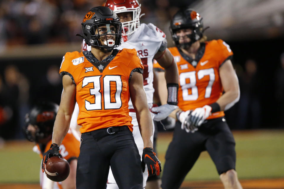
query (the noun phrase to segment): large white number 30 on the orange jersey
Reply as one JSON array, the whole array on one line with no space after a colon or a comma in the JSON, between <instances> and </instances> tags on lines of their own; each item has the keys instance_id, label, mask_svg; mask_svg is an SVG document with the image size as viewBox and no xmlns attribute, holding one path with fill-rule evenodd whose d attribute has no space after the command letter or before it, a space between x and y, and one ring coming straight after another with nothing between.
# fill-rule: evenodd
<instances>
[{"instance_id":1,"label":"large white number 30 on the orange jersey","mask_svg":"<svg viewBox=\"0 0 284 189\"><path fill-rule=\"evenodd\" d=\"M82 88L89 83L93 83L94 88L90 89L90 94L95 97L95 103L91 103L85 100L86 110L101 110L102 109L102 97L101 97L101 76L90 76L83 79ZM119 109L122 106L121 92L122 81L120 76L106 75L103 78L104 82L104 109ZM111 91L111 85L115 84L116 90ZM112 102L111 95L114 93L115 101Z\"/></svg>"}]
</instances>

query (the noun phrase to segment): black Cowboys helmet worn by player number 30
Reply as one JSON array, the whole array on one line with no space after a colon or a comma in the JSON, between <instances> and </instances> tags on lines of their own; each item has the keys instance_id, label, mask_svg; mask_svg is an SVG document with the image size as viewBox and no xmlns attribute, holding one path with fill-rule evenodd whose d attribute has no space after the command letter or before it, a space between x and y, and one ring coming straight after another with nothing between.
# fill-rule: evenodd
<instances>
[{"instance_id":1,"label":"black Cowboys helmet worn by player number 30","mask_svg":"<svg viewBox=\"0 0 284 189\"><path fill-rule=\"evenodd\" d=\"M101 25L106 25L107 32L104 34L99 34L98 28ZM110 33L109 32L109 26L115 27L115 32ZM93 46L93 47L100 47L101 49L106 49L109 52L115 48L121 45L121 30L122 30L122 24L119 21L119 17L113 12L111 9L105 6L97 6L92 8L84 17L82 22L82 29L83 29L83 35L77 34L78 36L81 36L84 38L87 45ZM96 34L96 30L97 33ZM101 44L99 41L99 38L101 36L105 35L114 35L114 40L106 40L104 44Z\"/></svg>"}]
</instances>

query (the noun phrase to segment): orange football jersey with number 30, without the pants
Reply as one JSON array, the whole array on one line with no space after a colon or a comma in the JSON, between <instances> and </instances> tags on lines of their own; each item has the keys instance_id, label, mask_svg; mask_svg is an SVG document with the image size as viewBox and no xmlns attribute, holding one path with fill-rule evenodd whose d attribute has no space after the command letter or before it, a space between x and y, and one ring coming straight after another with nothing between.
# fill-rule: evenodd
<instances>
[{"instance_id":1,"label":"orange football jersey with number 30, without the pants","mask_svg":"<svg viewBox=\"0 0 284 189\"><path fill-rule=\"evenodd\" d=\"M143 73L143 65L135 49L122 49L113 56L110 62L98 62L89 51L63 57L60 74L69 75L76 85L81 133L111 126L133 130L128 109L129 81L134 71Z\"/></svg>"}]
</instances>

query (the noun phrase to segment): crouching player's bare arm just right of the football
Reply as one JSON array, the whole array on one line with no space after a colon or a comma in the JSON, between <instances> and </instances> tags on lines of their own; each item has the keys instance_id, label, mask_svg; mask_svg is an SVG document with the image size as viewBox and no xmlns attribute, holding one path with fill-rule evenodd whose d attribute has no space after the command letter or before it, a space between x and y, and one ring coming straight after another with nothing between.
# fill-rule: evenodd
<instances>
[{"instance_id":1,"label":"crouching player's bare arm just right of the football","mask_svg":"<svg viewBox=\"0 0 284 189\"><path fill-rule=\"evenodd\" d=\"M77 159L73 159L70 162L69 176L61 182L63 189L76 189L76 169L77 169Z\"/></svg>"}]
</instances>

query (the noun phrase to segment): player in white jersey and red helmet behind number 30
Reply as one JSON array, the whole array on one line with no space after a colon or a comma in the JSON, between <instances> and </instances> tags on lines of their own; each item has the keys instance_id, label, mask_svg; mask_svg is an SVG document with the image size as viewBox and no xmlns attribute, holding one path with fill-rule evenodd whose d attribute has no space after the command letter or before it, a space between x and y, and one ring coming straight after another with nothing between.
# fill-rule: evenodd
<instances>
[{"instance_id":1,"label":"player in white jersey and red helmet behind number 30","mask_svg":"<svg viewBox=\"0 0 284 189\"><path fill-rule=\"evenodd\" d=\"M120 17L122 22L122 45L118 49L130 48L139 53L141 61L144 66L143 72L143 84L147 96L149 108L155 114L152 114L152 118L155 121L166 118L173 110L177 108L177 89L178 89L178 69L174 61L174 58L170 51L167 49L166 35L159 28L153 24L140 24L140 4L137 0L107 0L105 6L112 9ZM85 41L82 44L82 50L91 50L91 46L88 46ZM168 100L167 104L152 107L153 106L153 58L160 62L160 65L165 69L165 79L168 87ZM129 115L132 117L133 124L133 137L138 147L139 153L142 156L143 152L143 140L138 128L138 122L136 113L132 105L131 100L129 101ZM74 110L75 111L75 110ZM72 118L73 119L73 118ZM74 119L73 119L74 120ZM154 134L154 131L153 131ZM153 142L153 136L151 137ZM146 186L148 173L143 173L143 188ZM151 184L147 183L147 188L159 188L157 181L153 181L151 184L156 185L149 187ZM108 177L107 189L116 189L117 184L114 180L112 172L110 170Z\"/></svg>"}]
</instances>

